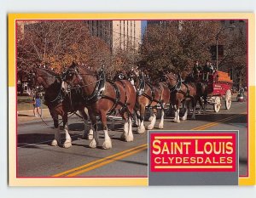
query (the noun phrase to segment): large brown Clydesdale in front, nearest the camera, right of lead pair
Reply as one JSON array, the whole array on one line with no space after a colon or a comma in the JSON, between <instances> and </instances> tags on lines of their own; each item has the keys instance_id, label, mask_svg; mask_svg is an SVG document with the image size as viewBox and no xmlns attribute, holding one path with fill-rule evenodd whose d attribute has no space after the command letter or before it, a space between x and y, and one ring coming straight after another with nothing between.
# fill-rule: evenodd
<instances>
[{"instance_id":1,"label":"large brown Clydesdale in front, nearest the camera, right of lead pair","mask_svg":"<svg viewBox=\"0 0 256 198\"><path fill-rule=\"evenodd\" d=\"M62 88L66 91L76 86L82 88L84 105L88 108L94 127L93 139L90 142L91 148L96 148L99 144L96 116L100 116L105 134L102 148L112 148L111 139L108 136L107 115L115 110L119 110L125 119L124 133L121 139L125 139L127 142L133 141L131 116L136 102L136 93L131 82L127 80L106 81L104 70L96 73L86 67L79 67L75 63L68 68L63 80L65 83Z\"/></svg>"}]
</instances>

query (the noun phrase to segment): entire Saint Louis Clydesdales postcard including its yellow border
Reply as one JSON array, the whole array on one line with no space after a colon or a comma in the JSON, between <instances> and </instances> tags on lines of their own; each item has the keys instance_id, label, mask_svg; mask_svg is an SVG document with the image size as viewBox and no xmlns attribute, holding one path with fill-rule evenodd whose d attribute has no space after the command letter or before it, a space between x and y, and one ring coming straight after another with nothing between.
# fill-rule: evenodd
<instances>
[{"instance_id":1,"label":"entire Saint Louis Clydesdales postcard including its yellow border","mask_svg":"<svg viewBox=\"0 0 256 198\"><path fill-rule=\"evenodd\" d=\"M255 184L255 16L9 14L9 185Z\"/></svg>"}]
</instances>

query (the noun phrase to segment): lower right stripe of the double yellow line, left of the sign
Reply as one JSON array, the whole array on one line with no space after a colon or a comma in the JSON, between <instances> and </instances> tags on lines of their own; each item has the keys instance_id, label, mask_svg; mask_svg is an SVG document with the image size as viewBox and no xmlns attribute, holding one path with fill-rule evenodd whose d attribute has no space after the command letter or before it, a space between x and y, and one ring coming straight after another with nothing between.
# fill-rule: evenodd
<instances>
[{"instance_id":1,"label":"lower right stripe of the double yellow line, left of the sign","mask_svg":"<svg viewBox=\"0 0 256 198\"><path fill-rule=\"evenodd\" d=\"M148 149L148 145L146 146L143 146L143 148L139 149L139 150L134 150L132 152L128 152L128 153L125 153L124 155L121 155L121 156L116 156L114 158L111 158L111 159L107 159L108 161L102 161L102 163L99 163L99 164L96 164L95 166L92 166L92 167L87 167L83 170L80 170L78 172L75 172L75 173L71 173L71 174L68 174L66 177L73 177L73 176L76 176L76 175L79 175L81 173L86 173L86 172L89 172L90 170L93 170L93 169L96 169L97 167L103 167L109 163L112 163L113 161L118 161L120 159L123 159L125 158L126 156L131 156L133 154L137 154L143 150L147 150Z\"/></svg>"}]
</instances>

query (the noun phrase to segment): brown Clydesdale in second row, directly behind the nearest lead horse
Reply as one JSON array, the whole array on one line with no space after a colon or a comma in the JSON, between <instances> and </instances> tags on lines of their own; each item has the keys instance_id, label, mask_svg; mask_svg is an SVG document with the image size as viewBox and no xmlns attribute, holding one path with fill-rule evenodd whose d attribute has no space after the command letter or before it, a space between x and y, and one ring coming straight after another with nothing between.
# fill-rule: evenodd
<instances>
[{"instance_id":1,"label":"brown Clydesdale in second row, directly behind the nearest lead horse","mask_svg":"<svg viewBox=\"0 0 256 198\"><path fill-rule=\"evenodd\" d=\"M130 80L137 90L137 116L140 117L137 122L137 133L144 133L144 115L146 107L153 109L153 117L148 129L153 129L156 122L157 105L161 107L161 119L159 128L164 128L165 106L170 102L170 90L165 82L158 82L154 85L146 82L145 76L142 71L132 69L130 71Z\"/></svg>"}]
</instances>

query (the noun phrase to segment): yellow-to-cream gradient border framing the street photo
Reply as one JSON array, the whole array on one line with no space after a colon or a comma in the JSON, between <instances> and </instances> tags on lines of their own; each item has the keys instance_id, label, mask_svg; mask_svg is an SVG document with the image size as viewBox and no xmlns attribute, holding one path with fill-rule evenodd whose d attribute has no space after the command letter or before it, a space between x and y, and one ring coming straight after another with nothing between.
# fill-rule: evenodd
<instances>
[{"instance_id":1,"label":"yellow-to-cream gradient border framing the street photo","mask_svg":"<svg viewBox=\"0 0 256 198\"><path fill-rule=\"evenodd\" d=\"M15 20L210 20L248 21L248 177L240 185L255 184L255 15L250 13L90 13L8 14L9 30L9 185L10 186L147 186L148 178L16 178Z\"/></svg>"}]
</instances>

